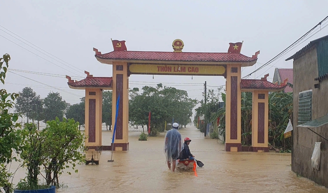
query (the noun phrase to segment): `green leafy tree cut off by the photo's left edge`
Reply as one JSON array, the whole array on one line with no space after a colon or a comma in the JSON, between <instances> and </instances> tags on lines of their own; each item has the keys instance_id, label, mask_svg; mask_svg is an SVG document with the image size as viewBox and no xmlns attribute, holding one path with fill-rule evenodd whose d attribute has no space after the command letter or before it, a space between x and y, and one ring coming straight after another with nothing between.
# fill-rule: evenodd
<instances>
[{"instance_id":1,"label":"green leafy tree cut off by the photo's left edge","mask_svg":"<svg viewBox=\"0 0 328 193\"><path fill-rule=\"evenodd\" d=\"M0 58L0 81L5 84L5 78L7 73L7 67L10 60L8 54L3 55ZM6 66L3 66L3 65ZM17 160L13 152L19 153L24 147L22 147L22 135L18 120L18 113L10 113L9 110L14 107L14 101L17 99L18 94L7 93L7 90L0 90L0 187L2 187L6 193L12 192L13 184L10 179L13 179L12 173L9 171L8 164L12 160ZM2 192L0 190L0 192Z\"/></svg>"}]
</instances>

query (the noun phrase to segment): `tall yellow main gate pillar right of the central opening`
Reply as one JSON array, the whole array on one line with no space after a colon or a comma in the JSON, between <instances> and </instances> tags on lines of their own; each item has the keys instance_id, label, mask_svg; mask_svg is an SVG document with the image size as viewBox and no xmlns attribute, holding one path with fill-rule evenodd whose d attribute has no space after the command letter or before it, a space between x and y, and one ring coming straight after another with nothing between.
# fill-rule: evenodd
<instances>
[{"instance_id":1,"label":"tall yellow main gate pillar right of the central opening","mask_svg":"<svg viewBox=\"0 0 328 193\"><path fill-rule=\"evenodd\" d=\"M226 151L241 151L241 65L227 64Z\"/></svg>"}]
</instances>

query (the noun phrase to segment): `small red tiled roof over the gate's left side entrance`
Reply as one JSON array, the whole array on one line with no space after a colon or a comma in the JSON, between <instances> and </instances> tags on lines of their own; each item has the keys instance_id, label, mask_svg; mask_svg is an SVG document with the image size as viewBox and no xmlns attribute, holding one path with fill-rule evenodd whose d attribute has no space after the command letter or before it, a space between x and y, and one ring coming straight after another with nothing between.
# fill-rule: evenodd
<instances>
[{"instance_id":1,"label":"small red tiled roof over the gate's left side entrance","mask_svg":"<svg viewBox=\"0 0 328 193\"><path fill-rule=\"evenodd\" d=\"M87 77L77 82L68 82L71 87L101 87L112 88L112 77Z\"/></svg>"}]
</instances>

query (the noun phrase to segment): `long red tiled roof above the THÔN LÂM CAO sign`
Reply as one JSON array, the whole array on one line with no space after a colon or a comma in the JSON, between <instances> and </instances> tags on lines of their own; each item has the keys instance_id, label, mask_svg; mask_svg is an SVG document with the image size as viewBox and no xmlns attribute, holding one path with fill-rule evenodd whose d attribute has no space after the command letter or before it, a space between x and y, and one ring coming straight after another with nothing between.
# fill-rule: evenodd
<instances>
[{"instance_id":1,"label":"long red tiled roof above the TH\u00d4N L\u00c2M CAO sign","mask_svg":"<svg viewBox=\"0 0 328 193\"><path fill-rule=\"evenodd\" d=\"M231 53L113 51L107 54L96 52L95 57L111 60L256 62L257 54L250 58L242 54Z\"/></svg>"}]
</instances>

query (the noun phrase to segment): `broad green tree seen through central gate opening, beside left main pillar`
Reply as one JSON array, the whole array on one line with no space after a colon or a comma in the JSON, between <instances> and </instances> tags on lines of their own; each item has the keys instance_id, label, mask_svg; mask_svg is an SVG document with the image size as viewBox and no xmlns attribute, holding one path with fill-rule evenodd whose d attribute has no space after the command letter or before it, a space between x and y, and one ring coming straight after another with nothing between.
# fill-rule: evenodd
<instances>
[{"instance_id":1,"label":"broad green tree seen through central gate opening, beside left main pillar","mask_svg":"<svg viewBox=\"0 0 328 193\"><path fill-rule=\"evenodd\" d=\"M148 128L148 116L151 112L151 135L156 135L158 131L163 131L165 122L175 122L187 125L192 115L196 101L188 98L185 90L173 87L157 86L142 87L142 94L139 89L130 90L130 121L135 125L146 125Z\"/></svg>"}]
</instances>

